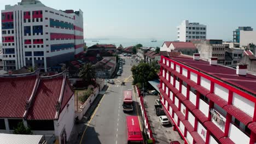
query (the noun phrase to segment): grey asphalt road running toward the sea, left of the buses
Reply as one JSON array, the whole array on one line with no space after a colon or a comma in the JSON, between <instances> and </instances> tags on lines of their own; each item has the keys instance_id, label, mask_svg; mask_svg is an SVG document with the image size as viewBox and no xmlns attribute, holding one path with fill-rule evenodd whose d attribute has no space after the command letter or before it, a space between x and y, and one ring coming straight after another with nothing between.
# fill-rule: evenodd
<instances>
[{"instance_id":1,"label":"grey asphalt road running toward the sea, left of the buses","mask_svg":"<svg viewBox=\"0 0 256 144\"><path fill-rule=\"evenodd\" d=\"M123 65L123 74L115 77L115 84L108 84L109 88L103 95L94 114L86 125L84 135L80 143L104 143L104 144L123 144L127 142L126 116L138 115L135 111L132 113L123 112L123 91L132 90L131 65L137 64L134 58L122 57L125 59ZM133 61L133 62L131 62ZM132 64L131 64L132 63ZM125 86L120 86L125 81ZM135 95L133 93L133 100ZM137 103L135 103L137 105ZM139 109L138 105L137 108Z\"/></svg>"}]
</instances>

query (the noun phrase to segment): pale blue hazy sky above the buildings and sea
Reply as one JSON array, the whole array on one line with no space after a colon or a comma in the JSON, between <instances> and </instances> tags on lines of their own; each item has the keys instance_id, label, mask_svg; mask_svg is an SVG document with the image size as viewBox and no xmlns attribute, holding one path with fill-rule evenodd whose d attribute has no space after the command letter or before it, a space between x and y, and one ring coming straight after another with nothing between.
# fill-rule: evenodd
<instances>
[{"instance_id":1,"label":"pale blue hazy sky above the buildings and sea","mask_svg":"<svg viewBox=\"0 0 256 144\"><path fill-rule=\"evenodd\" d=\"M4 5L21 0L0 0ZM238 26L256 28L255 0L42 0L54 9L81 9L85 38L177 39L182 20L207 25L208 39L232 39ZM256 30L256 29L255 29Z\"/></svg>"}]
</instances>

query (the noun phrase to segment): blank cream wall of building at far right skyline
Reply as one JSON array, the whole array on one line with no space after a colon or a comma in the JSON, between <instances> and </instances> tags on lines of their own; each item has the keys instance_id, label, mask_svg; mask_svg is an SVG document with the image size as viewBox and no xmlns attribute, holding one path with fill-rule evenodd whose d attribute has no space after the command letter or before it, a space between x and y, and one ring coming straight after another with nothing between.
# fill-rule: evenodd
<instances>
[{"instance_id":1,"label":"blank cream wall of building at far right skyline","mask_svg":"<svg viewBox=\"0 0 256 144\"><path fill-rule=\"evenodd\" d=\"M240 31L240 46L247 44L256 44L256 31Z\"/></svg>"}]
</instances>

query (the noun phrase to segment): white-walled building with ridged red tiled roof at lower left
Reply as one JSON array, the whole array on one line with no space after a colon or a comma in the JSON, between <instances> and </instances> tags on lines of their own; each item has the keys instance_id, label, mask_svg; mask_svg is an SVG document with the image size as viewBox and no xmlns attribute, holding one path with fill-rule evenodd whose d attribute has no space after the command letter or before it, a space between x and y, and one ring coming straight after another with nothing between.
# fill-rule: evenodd
<instances>
[{"instance_id":1,"label":"white-walled building with ridged red tiled roof at lower left","mask_svg":"<svg viewBox=\"0 0 256 144\"><path fill-rule=\"evenodd\" d=\"M34 135L65 143L74 125L74 91L66 73L0 75L0 133L12 134L18 123Z\"/></svg>"}]
</instances>

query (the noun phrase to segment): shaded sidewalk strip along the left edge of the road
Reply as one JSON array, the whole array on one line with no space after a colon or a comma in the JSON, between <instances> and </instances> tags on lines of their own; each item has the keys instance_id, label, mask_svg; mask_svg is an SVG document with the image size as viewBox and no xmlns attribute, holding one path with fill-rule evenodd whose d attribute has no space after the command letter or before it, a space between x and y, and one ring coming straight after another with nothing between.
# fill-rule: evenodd
<instances>
[{"instance_id":1,"label":"shaded sidewalk strip along the left edge of the road","mask_svg":"<svg viewBox=\"0 0 256 144\"><path fill-rule=\"evenodd\" d=\"M105 85L102 91L97 95L97 98L94 100L92 105L89 107L88 111L86 111L85 115L83 116L79 124L74 124L74 127L72 129L71 135L69 136L69 140L67 143L70 143L70 144L80 143L80 139L82 138L86 124L90 120L92 113L94 113L94 110L98 106L98 103L100 102L101 98L103 97L107 89L108 89L108 86Z\"/></svg>"}]
</instances>

